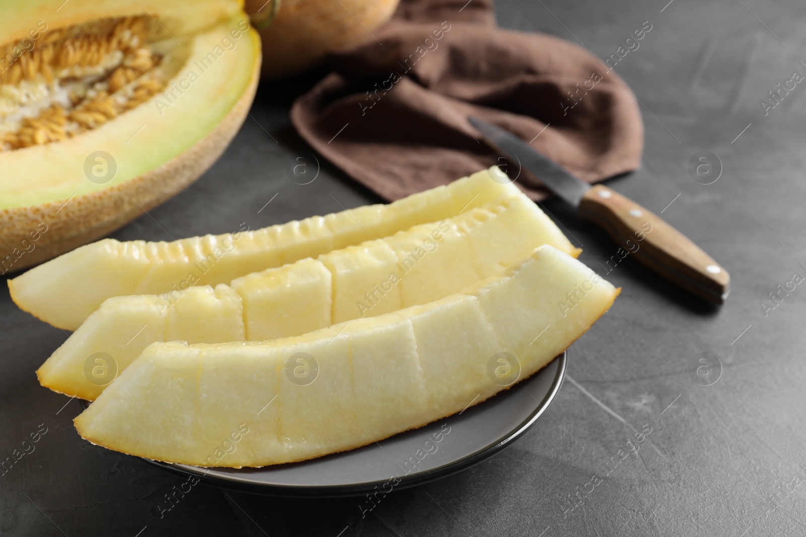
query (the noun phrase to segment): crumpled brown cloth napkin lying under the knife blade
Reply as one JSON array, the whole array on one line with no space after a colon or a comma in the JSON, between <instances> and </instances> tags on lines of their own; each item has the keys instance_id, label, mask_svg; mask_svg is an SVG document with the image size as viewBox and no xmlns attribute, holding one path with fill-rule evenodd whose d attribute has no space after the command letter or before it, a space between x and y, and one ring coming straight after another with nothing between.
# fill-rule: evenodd
<instances>
[{"instance_id":1,"label":"crumpled brown cloth napkin lying under the knife blade","mask_svg":"<svg viewBox=\"0 0 806 537\"><path fill-rule=\"evenodd\" d=\"M497 28L492 0L465 2L402 0L374 39L332 55L334 72L291 110L301 136L388 200L504 163L468 115L589 182L638 167L641 115L607 64L563 39ZM528 174L517 184L548 195Z\"/></svg>"}]
</instances>

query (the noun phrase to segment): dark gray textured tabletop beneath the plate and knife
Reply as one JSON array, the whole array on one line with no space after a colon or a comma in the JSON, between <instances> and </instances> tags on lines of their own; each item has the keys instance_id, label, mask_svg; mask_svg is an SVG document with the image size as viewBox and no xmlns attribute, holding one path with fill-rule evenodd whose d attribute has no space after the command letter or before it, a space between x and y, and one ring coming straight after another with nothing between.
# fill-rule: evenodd
<instances>
[{"instance_id":1,"label":"dark gray textured tabletop beneath the plate and knife","mask_svg":"<svg viewBox=\"0 0 806 537\"><path fill-rule=\"evenodd\" d=\"M64 406L33 373L65 335L20 312L2 286L0 457L47 432L0 476L0 535L806 534L806 288L762 307L793 273L806 276L806 87L767 115L760 104L793 71L806 73L806 10L796 0L667 1L499 0L496 10L503 27L581 40L603 58L650 21L640 48L617 65L642 102L643 169L609 184L663 212L728 268L724 307L697 303L628 256L607 275L621 297L571 347L550 414L500 455L394 493L363 520L355 500L278 500L206 485L160 518L164 494L184 480L77 436L79 404ZM345 207L375 201L327 163L313 184L288 178L310 150L287 113L316 79L263 85L223 158L114 237L224 233L243 221L256 228L338 211L334 198ZM689 176L698 151L721 159L716 183ZM546 209L584 246L588 265L615 253L560 204ZM721 366L711 358L697 377L704 352ZM642 429L651 432L629 452Z\"/></svg>"}]
</instances>

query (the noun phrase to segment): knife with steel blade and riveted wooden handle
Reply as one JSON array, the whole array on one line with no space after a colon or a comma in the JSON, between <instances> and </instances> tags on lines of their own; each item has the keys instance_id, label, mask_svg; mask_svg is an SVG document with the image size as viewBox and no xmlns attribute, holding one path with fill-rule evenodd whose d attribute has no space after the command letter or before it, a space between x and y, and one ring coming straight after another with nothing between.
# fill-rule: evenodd
<instances>
[{"instance_id":1,"label":"knife with steel blade and riveted wooden handle","mask_svg":"<svg viewBox=\"0 0 806 537\"><path fill-rule=\"evenodd\" d=\"M695 295L725 303L728 271L663 218L602 184L585 183L508 130L478 118L468 120L493 151L519 161L523 170L576 207L580 217L605 228L638 261Z\"/></svg>"}]
</instances>

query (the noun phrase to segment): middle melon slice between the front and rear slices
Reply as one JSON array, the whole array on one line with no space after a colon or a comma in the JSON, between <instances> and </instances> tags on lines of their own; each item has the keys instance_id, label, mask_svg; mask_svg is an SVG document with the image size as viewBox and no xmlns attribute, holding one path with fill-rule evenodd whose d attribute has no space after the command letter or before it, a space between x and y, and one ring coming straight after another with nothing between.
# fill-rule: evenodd
<instances>
[{"instance_id":1,"label":"middle melon slice between the front and rear slices","mask_svg":"<svg viewBox=\"0 0 806 537\"><path fill-rule=\"evenodd\" d=\"M81 399L104 387L154 341L222 343L299 336L461 291L550 244L577 254L529 198L518 193L459 216L318 259L167 295L107 299L37 371L39 382ZM95 353L114 367L90 369ZM102 362L101 362L102 363Z\"/></svg>"}]
</instances>

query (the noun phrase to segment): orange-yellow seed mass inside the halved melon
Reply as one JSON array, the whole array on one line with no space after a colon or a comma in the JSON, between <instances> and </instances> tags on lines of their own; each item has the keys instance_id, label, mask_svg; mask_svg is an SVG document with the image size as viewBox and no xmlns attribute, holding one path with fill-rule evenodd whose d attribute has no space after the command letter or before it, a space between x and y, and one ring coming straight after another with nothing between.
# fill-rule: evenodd
<instances>
[{"instance_id":1,"label":"orange-yellow seed mass inside the halved melon","mask_svg":"<svg viewBox=\"0 0 806 537\"><path fill-rule=\"evenodd\" d=\"M0 151L73 138L160 92L155 26L102 19L0 46Z\"/></svg>"}]
</instances>

